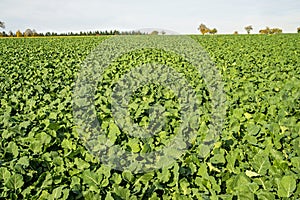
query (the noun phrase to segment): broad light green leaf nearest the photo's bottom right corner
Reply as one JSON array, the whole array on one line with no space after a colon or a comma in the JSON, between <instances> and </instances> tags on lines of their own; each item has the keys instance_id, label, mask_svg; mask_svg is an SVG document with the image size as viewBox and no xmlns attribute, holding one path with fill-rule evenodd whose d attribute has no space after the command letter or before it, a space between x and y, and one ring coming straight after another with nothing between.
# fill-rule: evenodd
<instances>
[{"instance_id":1,"label":"broad light green leaf nearest the photo's bottom right corner","mask_svg":"<svg viewBox=\"0 0 300 200\"><path fill-rule=\"evenodd\" d=\"M284 176L278 183L278 196L290 197L296 189L296 179L293 176Z\"/></svg>"}]
</instances>

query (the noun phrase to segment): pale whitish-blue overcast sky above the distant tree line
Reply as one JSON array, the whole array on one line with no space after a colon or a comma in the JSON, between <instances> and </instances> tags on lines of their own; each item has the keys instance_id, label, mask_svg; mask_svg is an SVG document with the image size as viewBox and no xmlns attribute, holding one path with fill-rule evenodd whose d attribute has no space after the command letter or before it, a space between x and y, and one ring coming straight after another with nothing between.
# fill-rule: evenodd
<instances>
[{"instance_id":1,"label":"pale whitish-blue overcast sky above the distant tree line","mask_svg":"<svg viewBox=\"0 0 300 200\"><path fill-rule=\"evenodd\" d=\"M0 0L5 31L79 32L160 28L197 34L201 23L218 33L253 26L283 32L300 27L299 0Z\"/></svg>"}]
</instances>

